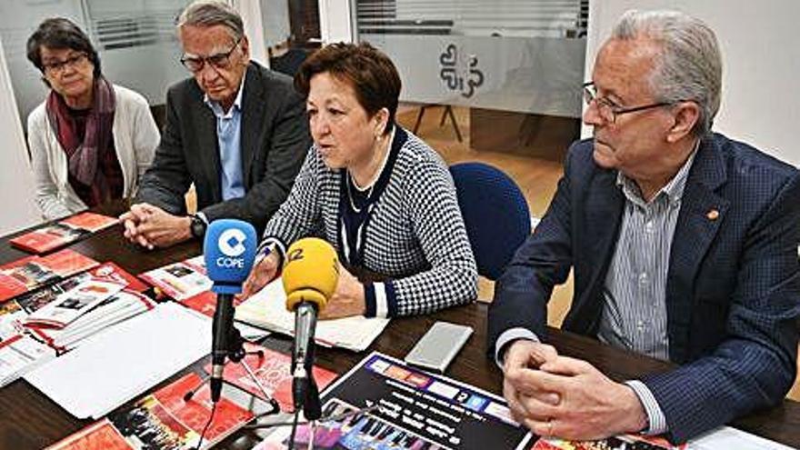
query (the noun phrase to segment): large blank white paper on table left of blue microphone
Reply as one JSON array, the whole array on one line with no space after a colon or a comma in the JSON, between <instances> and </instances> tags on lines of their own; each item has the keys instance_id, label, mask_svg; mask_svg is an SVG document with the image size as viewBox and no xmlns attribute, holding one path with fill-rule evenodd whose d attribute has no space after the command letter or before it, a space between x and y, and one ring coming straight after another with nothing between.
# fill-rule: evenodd
<instances>
[{"instance_id":1,"label":"large blank white paper on table left of blue microphone","mask_svg":"<svg viewBox=\"0 0 800 450\"><path fill-rule=\"evenodd\" d=\"M25 379L79 419L99 418L211 349L211 319L165 303L96 335Z\"/></svg>"}]
</instances>

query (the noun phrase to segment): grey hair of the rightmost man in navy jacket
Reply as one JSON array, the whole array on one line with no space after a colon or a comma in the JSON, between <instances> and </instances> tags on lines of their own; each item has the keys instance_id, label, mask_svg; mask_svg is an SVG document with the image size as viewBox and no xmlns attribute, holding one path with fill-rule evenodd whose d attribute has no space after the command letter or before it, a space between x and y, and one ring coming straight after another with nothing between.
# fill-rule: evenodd
<instances>
[{"instance_id":1,"label":"grey hair of the rightmost man in navy jacket","mask_svg":"<svg viewBox=\"0 0 800 450\"><path fill-rule=\"evenodd\" d=\"M722 56L714 31L677 11L627 11L613 39L652 39L660 46L650 76L651 92L665 103L692 100L700 106L695 135L711 130L722 92Z\"/></svg>"}]
</instances>

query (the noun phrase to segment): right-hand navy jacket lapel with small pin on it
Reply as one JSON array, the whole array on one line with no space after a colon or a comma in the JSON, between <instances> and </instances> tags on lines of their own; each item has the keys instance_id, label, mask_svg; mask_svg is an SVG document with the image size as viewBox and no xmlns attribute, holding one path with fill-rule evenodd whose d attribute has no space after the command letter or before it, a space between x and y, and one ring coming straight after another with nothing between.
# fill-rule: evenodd
<instances>
[{"instance_id":1,"label":"right-hand navy jacket lapel with small pin on it","mask_svg":"<svg viewBox=\"0 0 800 450\"><path fill-rule=\"evenodd\" d=\"M714 137L705 137L686 179L666 281L670 359L676 363L686 358L697 271L730 205L715 192L725 179L725 162Z\"/></svg>"}]
</instances>

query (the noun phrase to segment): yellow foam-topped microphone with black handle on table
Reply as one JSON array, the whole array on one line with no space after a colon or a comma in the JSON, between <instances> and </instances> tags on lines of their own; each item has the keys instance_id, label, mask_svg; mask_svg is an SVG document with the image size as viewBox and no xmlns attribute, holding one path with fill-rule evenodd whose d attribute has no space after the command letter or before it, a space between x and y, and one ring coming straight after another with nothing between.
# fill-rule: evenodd
<instances>
[{"instance_id":1,"label":"yellow foam-topped microphone with black handle on table","mask_svg":"<svg viewBox=\"0 0 800 450\"><path fill-rule=\"evenodd\" d=\"M303 409L308 420L322 415L312 372L316 316L334 294L338 279L339 262L333 246L315 237L305 237L289 246L283 283L286 309L295 312L292 396L295 411Z\"/></svg>"}]
</instances>

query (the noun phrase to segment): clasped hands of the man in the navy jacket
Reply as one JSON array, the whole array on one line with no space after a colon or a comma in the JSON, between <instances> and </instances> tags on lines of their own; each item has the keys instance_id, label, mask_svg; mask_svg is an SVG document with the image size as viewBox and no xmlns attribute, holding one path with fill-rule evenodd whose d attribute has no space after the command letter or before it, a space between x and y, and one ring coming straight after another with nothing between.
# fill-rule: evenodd
<instances>
[{"instance_id":1,"label":"clasped hands of the man in the navy jacket","mask_svg":"<svg viewBox=\"0 0 800 450\"><path fill-rule=\"evenodd\" d=\"M515 420L536 435L590 440L641 431L634 390L555 347L515 341L505 353L503 395Z\"/></svg>"}]
</instances>

